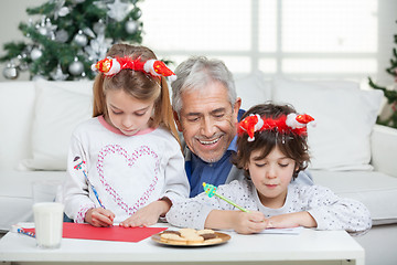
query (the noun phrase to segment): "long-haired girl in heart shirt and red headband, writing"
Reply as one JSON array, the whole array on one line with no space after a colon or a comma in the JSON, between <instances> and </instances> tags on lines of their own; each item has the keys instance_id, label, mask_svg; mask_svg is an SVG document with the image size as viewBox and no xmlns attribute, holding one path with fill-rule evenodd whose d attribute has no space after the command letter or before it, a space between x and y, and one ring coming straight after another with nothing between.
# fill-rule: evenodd
<instances>
[{"instance_id":1,"label":"long-haired girl in heart shirt and red headband, writing","mask_svg":"<svg viewBox=\"0 0 397 265\"><path fill-rule=\"evenodd\" d=\"M95 226L157 223L189 195L164 76L144 46L115 44L94 68L94 118L74 130L65 213Z\"/></svg>"}]
</instances>

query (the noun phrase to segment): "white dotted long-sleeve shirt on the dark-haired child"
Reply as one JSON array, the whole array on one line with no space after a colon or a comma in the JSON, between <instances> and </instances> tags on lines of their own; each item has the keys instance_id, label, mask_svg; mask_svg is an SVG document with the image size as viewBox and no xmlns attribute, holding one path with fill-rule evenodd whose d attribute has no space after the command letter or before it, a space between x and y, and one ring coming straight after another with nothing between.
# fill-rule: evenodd
<instances>
[{"instance_id":1,"label":"white dotted long-sleeve shirt on the dark-haired child","mask_svg":"<svg viewBox=\"0 0 397 265\"><path fill-rule=\"evenodd\" d=\"M355 200L342 199L320 186L290 183L283 206L270 209L262 205L254 183L247 179L235 180L219 186L216 193L251 211L259 211L266 218L308 211L318 223L318 230L345 230L351 233L364 232L372 226L367 208ZM172 205L165 218L175 226L204 229L212 210L237 210L224 200L201 193L195 198Z\"/></svg>"}]
</instances>

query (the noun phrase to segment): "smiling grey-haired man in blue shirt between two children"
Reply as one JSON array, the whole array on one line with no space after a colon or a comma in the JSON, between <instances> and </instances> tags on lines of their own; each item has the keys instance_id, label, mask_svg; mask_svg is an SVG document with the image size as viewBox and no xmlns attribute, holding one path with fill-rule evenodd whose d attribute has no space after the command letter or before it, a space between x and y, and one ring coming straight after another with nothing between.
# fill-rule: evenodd
<instances>
[{"instance_id":1,"label":"smiling grey-haired man in blue shirt between two children","mask_svg":"<svg viewBox=\"0 0 397 265\"><path fill-rule=\"evenodd\" d=\"M181 63L175 74L172 107L185 144L190 197L204 191L203 182L219 186L244 178L243 170L230 162L236 152L236 124L244 114L232 73L222 61L201 56ZM304 172L297 181L312 184Z\"/></svg>"}]
</instances>

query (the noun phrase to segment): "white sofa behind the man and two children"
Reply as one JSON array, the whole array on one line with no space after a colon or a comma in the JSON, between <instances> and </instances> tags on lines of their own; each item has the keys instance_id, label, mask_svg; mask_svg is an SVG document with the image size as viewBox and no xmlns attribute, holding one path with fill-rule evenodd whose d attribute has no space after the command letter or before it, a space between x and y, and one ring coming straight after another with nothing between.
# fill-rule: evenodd
<instances>
[{"instance_id":1,"label":"white sofa behind the man and two children","mask_svg":"<svg viewBox=\"0 0 397 265\"><path fill-rule=\"evenodd\" d=\"M378 91L344 81L236 78L243 108L289 102L316 119L309 128L316 184L367 205L373 229L355 237L366 264L397 264L397 130L375 124ZM0 83L0 230L32 221L34 200L52 200L65 176L72 129L90 117L92 82Z\"/></svg>"}]
</instances>

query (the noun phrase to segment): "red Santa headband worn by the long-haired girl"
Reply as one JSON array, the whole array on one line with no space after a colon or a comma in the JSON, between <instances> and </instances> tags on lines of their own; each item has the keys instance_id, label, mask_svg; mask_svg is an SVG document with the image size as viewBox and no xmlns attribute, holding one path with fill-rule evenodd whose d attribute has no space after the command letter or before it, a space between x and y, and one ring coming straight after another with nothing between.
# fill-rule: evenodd
<instances>
[{"instance_id":1,"label":"red Santa headband worn by the long-haired girl","mask_svg":"<svg viewBox=\"0 0 397 265\"><path fill-rule=\"evenodd\" d=\"M124 57L107 57L100 60L98 63L92 65L93 71L99 71L106 76L114 76L124 68L140 71L150 74L153 77L169 76L171 81L176 78L176 75L159 60L141 61L140 57L132 60L129 56Z\"/></svg>"}]
</instances>

